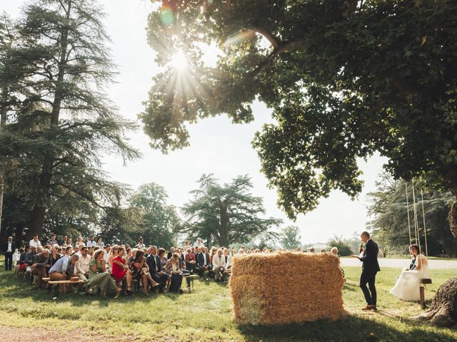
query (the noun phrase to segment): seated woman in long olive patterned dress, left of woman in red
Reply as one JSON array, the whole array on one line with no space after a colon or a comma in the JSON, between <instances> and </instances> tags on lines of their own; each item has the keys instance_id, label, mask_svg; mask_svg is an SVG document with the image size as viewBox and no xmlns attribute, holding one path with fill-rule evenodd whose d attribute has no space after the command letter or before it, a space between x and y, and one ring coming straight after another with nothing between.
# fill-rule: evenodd
<instances>
[{"instance_id":1,"label":"seated woman in long olive patterned dress, left of woman in red","mask_svg":"<svg viewBox=\"0 0 457 342\"><path fill-rule=\"evenodd\" d=\"M101 290L102 296L106 296L107 291L115 291L119 294L121 289L116 286L111 274L106 271L106 263L104 259L104 250L98 249L94 253L94 258L89 261L89 281L87 281L88 291Z\"/></svg>"}]
</instances>

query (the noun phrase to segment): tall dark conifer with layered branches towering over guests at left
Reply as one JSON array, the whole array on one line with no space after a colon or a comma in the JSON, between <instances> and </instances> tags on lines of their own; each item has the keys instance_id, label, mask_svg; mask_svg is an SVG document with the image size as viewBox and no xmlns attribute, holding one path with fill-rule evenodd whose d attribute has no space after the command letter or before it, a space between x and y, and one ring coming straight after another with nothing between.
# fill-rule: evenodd
<instances>
[{"instance_id":1,"label":"tall dark conifer with layered branches towering over guests at left","mask_svg":"<svg viewBox=\"0 0 457 342\"><path fill-rule=\"evenodd\" d=\"M115 71L103 17L94 0L28 1L15 24L19 38L0 54L0 88L11 99L1 108L9 114L1 155L30 173L29 234L42 232L54 199L111 207L124 187L106 180L101 155L138 156L125 139L135 125L105 93Z\"/></svg>"}]
</instances>

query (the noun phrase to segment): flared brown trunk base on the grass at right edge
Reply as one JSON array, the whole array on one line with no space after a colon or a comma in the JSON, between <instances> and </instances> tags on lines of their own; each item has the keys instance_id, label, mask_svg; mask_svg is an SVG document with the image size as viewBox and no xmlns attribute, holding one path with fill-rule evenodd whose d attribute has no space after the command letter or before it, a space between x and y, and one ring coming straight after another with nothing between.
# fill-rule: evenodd
<instances>
[{"instance_id":1,"label":"flared brown trunk base on the grass at right edge","mask_svg":"<svg viewBox=\"0 0 457 342\"><path fill-rule=\"evenodd\" d=\"M449 279L436 291L430 309L413 317L414 321L430 321L433 325L452 327L457 324L457 277Z\"/></svg>"}]
</instances>

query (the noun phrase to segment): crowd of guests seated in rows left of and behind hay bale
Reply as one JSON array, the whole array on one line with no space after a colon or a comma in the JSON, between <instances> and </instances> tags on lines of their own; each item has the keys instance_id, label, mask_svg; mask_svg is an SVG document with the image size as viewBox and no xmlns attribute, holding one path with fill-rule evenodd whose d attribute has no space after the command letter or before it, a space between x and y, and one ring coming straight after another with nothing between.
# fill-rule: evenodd
<instances>
[{"instance_id":1,"label":"crowd of guests seated in rows left of and behind hay bale","mask_svg":"<svg viewBox=\"0 0 457 342\"><path fill-rule=\"evenodd\" d=\"M234 255L275 252L256 247L241 247L238 251L226 247L208 249L201 239L197 239L193 246L186 241L184 247L171 247L168 252L154 245L146 247L142 238L134 247L104 244L100 237L90 237L86 242L77 237L74 245L71 241L71 237L67 236L57 241L53 234L42 246L36 235L29 246L17 253L15 274L30 274L39 289L48 285L43 280L46 278L61 281L77 277L74 279L86 284L87 293L100 291L106 296L109 292L116 295L123 292L130 295L136 283L136 288L141 288L143 294L149 296L151 292L182 293L182 281L186 278L190 287L191 275L206 280L228 281ZM285 251L281 249L277 252ZM296 251L301 252L300 247ZM310 249L308 252L314 251ZM338 254L338 250L332 249L331 253ZM78 290L81 289L79 286ZM67 290L65 284L61 285L61 291Z\"/></svg>"}]
</instances>

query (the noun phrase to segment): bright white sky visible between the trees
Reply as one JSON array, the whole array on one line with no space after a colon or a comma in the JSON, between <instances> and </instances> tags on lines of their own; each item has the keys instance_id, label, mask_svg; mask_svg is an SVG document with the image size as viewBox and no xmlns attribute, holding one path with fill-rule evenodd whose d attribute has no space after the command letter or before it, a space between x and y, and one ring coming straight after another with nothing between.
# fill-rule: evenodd
<instances>
[{"instance_id":1,"label":"bright white sky visible between the trees","mask_svg":"<svg viewBox=\"0 0 457 342\"><path fill-rule=\"evenodd\" d=\"M12 18L20 14L24 0L0 0L0 11ZM131 120L143 110L141 104L152 86L157 73L154 51L146 42L146 21L151 11L147 0L99 0L106 11L106 31L111 36L111 50L118 66L119 76L109 88L109 97L116 103L119 113ZM196 188L196 180L213 173L221 182L230 182L237 175L250 175L253 195L263 197L266 216L283 219L283 225L295 224L301 231L303 243L327 242L337 235L352 237L354 232L366 229L366 193L375 190L375 181L386 160L378 155L368 162L360 161L365 182L358 199L351 200L342 192L331 192L321 199L318 207L306 215L300 214L291 222L276 206L276 190L267 188L266 177L251 141L264 123L271 122L271 111L262 103L253 105L255 120L248 125L233 125L226 117L209 118L189 126L190 147L163 155L149 147L149 138L141 128L129 135L130 143L141 151L141 160L123 165L116 155L106 155L104 170L111 179L132 188L149 182L163 186L169 195L169 204L176 207L191 199L189 192Z\"/></svg>"}]
</instances>

